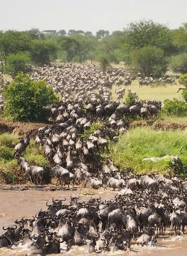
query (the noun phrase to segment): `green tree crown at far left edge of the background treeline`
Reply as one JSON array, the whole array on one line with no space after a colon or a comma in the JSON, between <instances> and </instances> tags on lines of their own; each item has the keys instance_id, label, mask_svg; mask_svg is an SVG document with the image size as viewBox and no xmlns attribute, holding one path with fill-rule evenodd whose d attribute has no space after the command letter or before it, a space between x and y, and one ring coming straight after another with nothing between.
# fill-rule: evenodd
<instances>
[{"instance_id":1,"label":"green tree crown at far left edge of the background treeline","mask_svg":"<svg viewBox=\"0 0 187 256\"><path fill-rule=\"evenodd\" d=\"M5 64L8 55L30 51L31 46L31 39L25 32L14 30L0 31L0 53L1 59L5 61Z\"/></svg>"}]
</instances>

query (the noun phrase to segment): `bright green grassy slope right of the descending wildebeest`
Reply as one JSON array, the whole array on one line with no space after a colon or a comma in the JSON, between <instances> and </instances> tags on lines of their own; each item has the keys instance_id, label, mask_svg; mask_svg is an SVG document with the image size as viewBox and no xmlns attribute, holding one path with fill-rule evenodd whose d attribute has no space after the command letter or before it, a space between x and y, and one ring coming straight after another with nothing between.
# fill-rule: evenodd
<instances>
[{"instance_id":1,"label":"bright green grassy slope right of the descending wildebeest","mask_svg":"<svg viewBox=\"0 0 187 256\"><path fill-rule=\"evenodd\" d=\"M171 159L159 162L143 162L142 159L178 155L187 166L187 131L156 131L151 127L137 127L122 135L117 143L111 143L110 151L109 158L121 171L132 168L136 174L167 174Z\"/></svg>"}]
</instances>

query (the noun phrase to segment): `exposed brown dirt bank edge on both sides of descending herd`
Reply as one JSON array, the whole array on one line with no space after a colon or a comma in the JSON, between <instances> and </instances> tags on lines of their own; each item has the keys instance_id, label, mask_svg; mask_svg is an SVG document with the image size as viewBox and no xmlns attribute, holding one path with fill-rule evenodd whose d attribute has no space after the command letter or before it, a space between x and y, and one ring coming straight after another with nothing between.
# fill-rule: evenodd
<instances>
[{"instance_id":1,"label":"exposed brown dirt bank edge on both sides of descending herd","mask_svg":"<svg viewBox=\"0 0 187 256\"><path fill-rule=\"evenodd\" d=\"M35 132L40 127L48 125L52 126L51 122L48 123L35 123L35 122L11 122L5 118L0 118L0 133L13 133L15 135L23 135L26 132ZM186 122L175 121L131 121L129 123L130 128L134 127L148 127L152 126L154 129L161 130L185 130L187 128Z\"/></svg>"}]
</instances>

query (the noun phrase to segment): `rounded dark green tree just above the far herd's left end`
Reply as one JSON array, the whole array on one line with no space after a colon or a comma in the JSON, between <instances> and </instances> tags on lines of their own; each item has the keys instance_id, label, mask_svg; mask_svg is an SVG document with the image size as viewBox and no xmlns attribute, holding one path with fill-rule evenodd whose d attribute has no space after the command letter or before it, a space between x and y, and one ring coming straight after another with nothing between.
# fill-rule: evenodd
<instances>
[{"instance_id":1,"label":"rounded dark green tree just above the far herd's left end","mask_svg":"<svg viewBox=\"0 0 187 256\"><path fill-rule=\"evenodd\" d=\"M33 40L31 49L31 60L38 65L49 64L57 58L58 47L56 43L49 40Z\"/></svg>"}]
</instances>

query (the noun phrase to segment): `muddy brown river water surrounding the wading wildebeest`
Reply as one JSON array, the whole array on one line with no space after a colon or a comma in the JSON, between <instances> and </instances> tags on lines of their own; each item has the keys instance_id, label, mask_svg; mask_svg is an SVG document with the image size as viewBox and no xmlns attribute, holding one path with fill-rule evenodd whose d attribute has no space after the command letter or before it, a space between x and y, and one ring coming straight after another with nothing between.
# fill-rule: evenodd
<instances>
[{"instance_id":1,"label":"muddy brown river water surrounding the wading wildebeest","mask_svg":"<svg viewBox=\"0 0 187 256\"><path fill-rule=\"evenodd\" d=\"M87 194L84 195L81 194ZM111 199L116 195L117 192L105 190L105 191L88 191L86 189L77 190L77 191L35 191L35 190L26 190L26 191L0 191L0 234L4 233L2 226L14 225L14 221L18 218L32 218L35 214L42 208L46 209L46 202L54 199L62 199L66 197L68 199L71 195L80 195L80 199L87 200L90 199L92 193L94 196L100 195L101 199ZM63 251L62 254L67 256L70 255L88 255L87 246L74 246L73 249L66 252ZM131 251L116 251L115 253L101 253L100 255L140 255L140 256L167 256L167 255L176 255L176 256L187 256L187 230L186 235L184 236L169 236L169 233L166 233L164 237L158 239L158 246L140 246L131 245ZM18 255L23 256L25 253L22 248L16 249L0 249L0 256L10 256ZM52 254L54 255L54 254ZM60 255L60 254L57 254ZM91 254L98 255L98 254Z\"/></svg>"}]
</instances>

